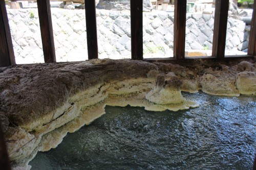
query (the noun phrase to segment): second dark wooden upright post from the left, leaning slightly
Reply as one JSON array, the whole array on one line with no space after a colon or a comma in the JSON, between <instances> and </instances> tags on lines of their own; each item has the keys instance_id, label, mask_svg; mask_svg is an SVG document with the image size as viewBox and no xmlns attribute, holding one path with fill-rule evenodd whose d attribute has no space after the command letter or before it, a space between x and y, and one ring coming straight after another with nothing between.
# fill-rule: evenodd
<instances>
[{"instance_id":1,"label":"second dark wooden upright post from the left, leaning slightly","mask_svg":"<svg viewBox=\"0 0 256 170\"><path fill-rule=\"evenodd\" d=\"M42 50L46 63L56 62L50 0L37 0Z\"/></svg>"}]
</instances>

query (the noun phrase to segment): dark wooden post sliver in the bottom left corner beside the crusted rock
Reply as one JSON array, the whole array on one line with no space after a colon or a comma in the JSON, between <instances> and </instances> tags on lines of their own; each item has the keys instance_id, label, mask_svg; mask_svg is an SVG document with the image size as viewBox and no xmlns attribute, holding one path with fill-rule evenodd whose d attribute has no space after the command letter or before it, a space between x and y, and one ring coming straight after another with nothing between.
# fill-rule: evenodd
<instances>
[{"instance_id":1,"label":"dark wooden post sliver in the bottom left corner beside the crusted rock","mask_svg":"<svg viewBox=\"0 0 256 170\"><path fill-rule=\"evenodd\" d=\"M11 170L1 122L0 122L0 169Z\"/></svg>"}]
</instances>

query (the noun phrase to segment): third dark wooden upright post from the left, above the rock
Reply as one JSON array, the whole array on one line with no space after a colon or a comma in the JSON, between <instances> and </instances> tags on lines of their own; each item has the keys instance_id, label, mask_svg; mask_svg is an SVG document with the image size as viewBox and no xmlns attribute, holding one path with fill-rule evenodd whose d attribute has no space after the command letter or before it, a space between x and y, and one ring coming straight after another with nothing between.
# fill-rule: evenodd
<instances>
[{"instance_id":1,"label":"third dark wooden upright post from the left, above the rock","mask_svg":"<svg viewBox=\"0 0 256 170\"><path fill-rule=\"evenodd\" d=\"M88 59L98 58L95 0L85 0Z\"/></svg>"}]
</instances>

